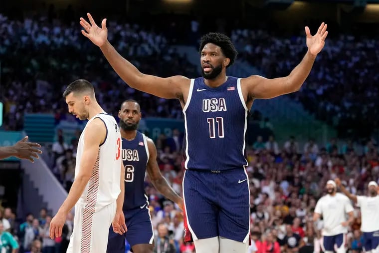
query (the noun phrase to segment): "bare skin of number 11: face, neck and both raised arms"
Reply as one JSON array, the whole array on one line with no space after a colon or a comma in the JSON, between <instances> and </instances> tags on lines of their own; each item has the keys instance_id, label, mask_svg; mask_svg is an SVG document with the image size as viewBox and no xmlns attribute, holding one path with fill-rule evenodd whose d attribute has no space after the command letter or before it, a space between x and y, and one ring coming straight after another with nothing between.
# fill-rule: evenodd
<instances>
[{"instance_id":1,"label":"bare skin of number 11: face, neck and both raised arms","mask_svg":"<svg viewBox=\"0 0 379 253\"><path fill-rule=\"evenodd\" d=\"M84 18L80 18L80 24L84 28L82 34L100 47L113 69L128 85L158 97L177 98L180 100L182 108L185 106L189 94L189 78L185 76L161 78L141 73L132 63L123 58L107 40L108 30L106 27L106 19L103 19L100 28L95 23L91 14L87 13L87 16L90 23ZM308 77L317 54L325 45L325 38L328 35L326 29L327 25L322 23L317 33L312 36L309 28L305 27L308 51L300 64L297 65L288 76L267 79L262 76L252 75L247 78L242 78L241 89L247 108L251 108L253 100L256 98L268 99L298 91ZM212 80L205 79L205 84L209 87L222 85L227 79L226 66L229 62L230 59L222 53L219 46L212 43L206 44L200 56L200 64L204 72L205 67L209 66L209 64L214 67L221 65L222 71ZM208 70L209 69L206 69L206 71Z\"/></svg>"}]
</instances>

